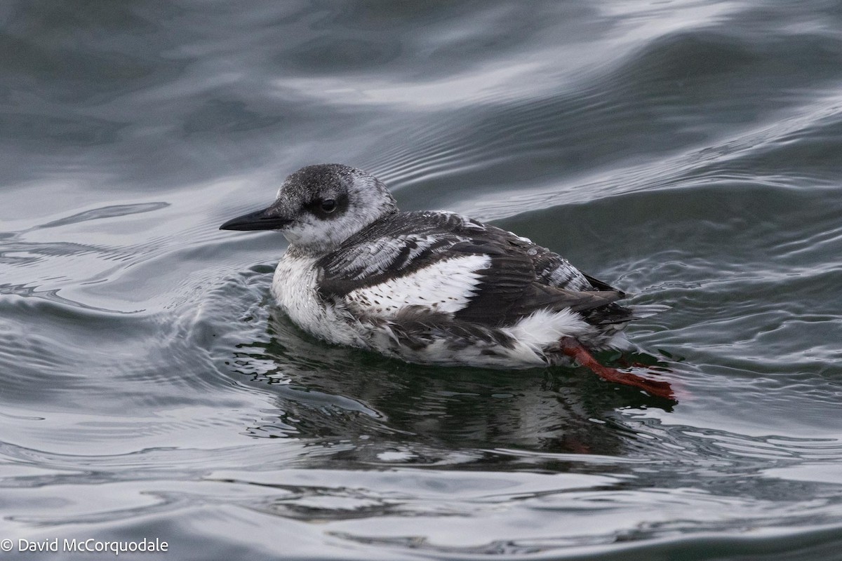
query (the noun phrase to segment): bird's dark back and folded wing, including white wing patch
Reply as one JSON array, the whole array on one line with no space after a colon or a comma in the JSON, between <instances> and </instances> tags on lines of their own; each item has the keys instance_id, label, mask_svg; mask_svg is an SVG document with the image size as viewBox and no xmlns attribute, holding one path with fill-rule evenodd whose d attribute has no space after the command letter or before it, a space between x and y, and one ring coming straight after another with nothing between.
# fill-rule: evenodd
<instances>
[{"instance_id":1,"label":"bird's dark back and folded wing, including white wing patch","mask_svg":"<svg viewBox=\"0 0 842 561\"><path fill-rule=\"evenodd\" d=\"M323 298L346 299L368 315L397 315L405 304L489 327L515 325L538 310L571 310L593 325L631 319L613 304L621 291L554 251L460 214L390 214L317 267Z\"/></svg>"}]
</instances>

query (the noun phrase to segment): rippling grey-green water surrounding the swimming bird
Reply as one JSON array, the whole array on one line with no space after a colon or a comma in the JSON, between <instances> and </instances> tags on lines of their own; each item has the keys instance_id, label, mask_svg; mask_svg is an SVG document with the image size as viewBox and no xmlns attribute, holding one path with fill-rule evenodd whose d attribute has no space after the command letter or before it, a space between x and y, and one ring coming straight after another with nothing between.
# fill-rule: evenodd
<instances>
[{"instance_id":1,"label":"rippling grey-green water surrounding the swimming bird","mask_svg":"<svg viewBox=\"0 0 842 561\"><path fill-rule=\"evenodd\" d=\"M303 335L217 227L322 161L669 304L685 397ZM840 177L837 1L5 2L0 538L842 559Z\"/></svg>"}]
</instances>

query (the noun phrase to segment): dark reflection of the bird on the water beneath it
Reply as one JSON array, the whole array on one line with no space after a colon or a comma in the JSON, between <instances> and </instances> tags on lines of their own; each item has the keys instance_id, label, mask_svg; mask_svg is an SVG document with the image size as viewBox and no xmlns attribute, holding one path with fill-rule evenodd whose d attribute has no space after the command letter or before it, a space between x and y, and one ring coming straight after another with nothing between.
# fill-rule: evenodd
<instances>
[{"instance_id":1,"label":"dark reflection of the bird on the water beneath it","mask_svg":"<svg viewBox=\"0 0 842 561\"><path fill-rule=\"evenodd\" d=\"M277 410L248 431L335 443L332 462L499 463L500 450L616 455L631 431L613 411L671 405L585 368L432 367L331 346L277 310L268 331L269 343L242 344L235 361L278 394Z\"/></svg>"}]
</instances>

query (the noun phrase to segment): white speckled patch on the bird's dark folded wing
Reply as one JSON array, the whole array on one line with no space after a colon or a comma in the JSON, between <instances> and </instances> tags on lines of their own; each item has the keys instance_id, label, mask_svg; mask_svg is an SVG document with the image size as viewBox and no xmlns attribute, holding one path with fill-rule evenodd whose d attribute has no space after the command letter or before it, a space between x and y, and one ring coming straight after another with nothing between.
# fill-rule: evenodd
<instances>
[{"instance_id":1,"label":"white speckled patch on the bird's dark folded wing","mask_svg":"<svg viewBox=\"0 0 842 561\"><path fill-rule=\"evenodd\" d=\"M408 275L356 288L345 299L354 311L381 317L393 317L406 306L453 314L466 307L482 276L478 271L490 265L488 255L444 259Z\"/></svg>"}]
</instances>

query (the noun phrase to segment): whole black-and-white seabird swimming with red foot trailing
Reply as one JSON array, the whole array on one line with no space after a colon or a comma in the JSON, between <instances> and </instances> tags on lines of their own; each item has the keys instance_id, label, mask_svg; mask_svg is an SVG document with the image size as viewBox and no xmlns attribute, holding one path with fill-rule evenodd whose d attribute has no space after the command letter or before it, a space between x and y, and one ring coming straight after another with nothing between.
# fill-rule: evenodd
<instances>
[{"instance_id":1,"label":"whole black-and-white seabird swimming with red foot trailing","mask_svg":"<svg viewBox=\"0 0 842 561\"><path fill-rule=\"evenodd\" d=\"M451 212L402 212L376 177L302 167L268 208L221 230L280 230L290 242L272 293L303 330L411 363L492 368L569 364L671 398L666 382L598 363L642 317L625 294L557 253Z\"/></svg>"}]
</instances>

